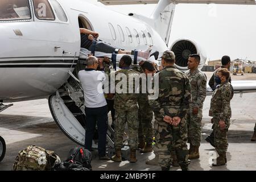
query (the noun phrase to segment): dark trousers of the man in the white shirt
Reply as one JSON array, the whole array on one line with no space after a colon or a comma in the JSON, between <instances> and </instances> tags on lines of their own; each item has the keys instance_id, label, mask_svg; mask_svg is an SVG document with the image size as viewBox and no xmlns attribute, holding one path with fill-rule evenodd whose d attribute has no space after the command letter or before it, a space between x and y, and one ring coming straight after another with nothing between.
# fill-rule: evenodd
<instances>
[{"instance_id":1,"label":"dark trousers of the man in the white shirt","mask_svg":"<svg viewBox=\"0 0 256 182\"><path fill-rule=\"evenodd\" d=\"M96 128L98 127L98 155L106 155L106 132L108 130L108 107L85 107L86 131L85 148L92 150L92 140Z\"/></svg>"}]
</instances>

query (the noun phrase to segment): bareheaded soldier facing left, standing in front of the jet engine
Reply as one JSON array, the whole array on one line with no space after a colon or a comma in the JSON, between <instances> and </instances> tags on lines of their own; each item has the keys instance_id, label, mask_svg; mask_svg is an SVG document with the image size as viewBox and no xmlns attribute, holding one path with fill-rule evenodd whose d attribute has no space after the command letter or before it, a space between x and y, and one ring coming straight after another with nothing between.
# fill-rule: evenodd
<instances>
[{"instance_id":1,"label":"bareheaded soldier facing left, standing in front of the jet engine","mask_svg":"<svg viewBox=\"0 0 256 182\"><path fill-rule=\"evenodd\" d=\"M198 69L200 64L199 55L189 55L186 72L191 85L192 104L188 113L188 159L199 159L199 146L201 142L202 109L206 97L207 77Z\"/></svg>"}]
</instances>

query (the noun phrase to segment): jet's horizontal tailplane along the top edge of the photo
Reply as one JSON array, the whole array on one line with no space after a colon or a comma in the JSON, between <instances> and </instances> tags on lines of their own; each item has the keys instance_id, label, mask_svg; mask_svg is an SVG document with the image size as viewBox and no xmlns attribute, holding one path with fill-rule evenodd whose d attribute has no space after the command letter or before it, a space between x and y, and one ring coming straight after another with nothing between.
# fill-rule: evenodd
<instances>
[{"instance_id":1,"label":"jet's horizontal tailplane along the top edge of the photo","mask_svg":"<svg viewBox=\"0 0 256 182\"><path fill-rule=\"evenodd\" d=\"M104 5L135 5L135 4L156 4L159 1L157 0L98 0ZM179 3L203 3L203 4L209 4L209 3L216 3L216 4L233 4L233 5L256 5L255 0L169 0L170 2L174 4Z\"/></svg>"}]
</instances>

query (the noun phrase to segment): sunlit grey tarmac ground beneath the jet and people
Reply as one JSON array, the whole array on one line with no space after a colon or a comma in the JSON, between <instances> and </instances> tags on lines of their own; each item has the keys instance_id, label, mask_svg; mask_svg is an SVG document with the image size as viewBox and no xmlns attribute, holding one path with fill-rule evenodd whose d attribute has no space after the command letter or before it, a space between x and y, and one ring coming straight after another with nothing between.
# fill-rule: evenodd
<instances>
[{"instance_id":1,"label":"sunlit grey tarmac ground beneath the jet and people","mask_svg":"<svg viewBox=\"0 0 256 182\"><path fill-rule=\"evenodd\" d=\"M234 77L234 76L233 76ZM232 78L233 78L232 77ZM208 79L209 80L209 79ZM191 160L189 169L191 171L201 170L256 170L256 142L251 142L256 122L256 92L237 93L231 102L232 118L228 132L228 163L221 167L212 167L209 158L214 148L204 139L211 133L212 125L208 116L210 98L207 96L203 108L203 130L200 146L200 159ZM66 137L57 127L48 108L47 100L34 100L14 102L14 106L0 113L0 135L5 138L7 149L5 159L0 163L0 171L13 169L15 157L20 150L29 145L36 145L46 150L55 151L65 160L68 151L77 146ZM137 151L138 162L135 164L129 161L115 163L99 162L97 151L93 151L93 170L160 170L159 166L149 166L146 160L154 158L154 153L141 154ZM179 167L172 167L171 171L180 170Z\"/></svg>"}]
</instances>

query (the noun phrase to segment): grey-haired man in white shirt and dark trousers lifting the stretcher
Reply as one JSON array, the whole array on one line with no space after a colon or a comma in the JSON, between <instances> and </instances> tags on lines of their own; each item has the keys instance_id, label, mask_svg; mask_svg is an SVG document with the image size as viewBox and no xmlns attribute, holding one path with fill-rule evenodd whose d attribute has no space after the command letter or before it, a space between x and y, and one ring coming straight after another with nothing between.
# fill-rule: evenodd
<instances>
[{"instance_id":1,"label":"grey-haired man in white shirt and dark trousers lifting the stretcher","mask_svg":"<svg viewBox=\"0 0 256 182\"><path fill-rule=\"evenodd\" d=\"M96 71L100 65L101 71ZM103 60L94 56L86 59L86 68L78 74L84 90L84 105L86 114L85 148L92 150L92 140L98 127L98 156L99 160L110 160L106 156L106 131L108 130L108 108L102 89L106 77Z\"/></svg>"}]
</instances>

